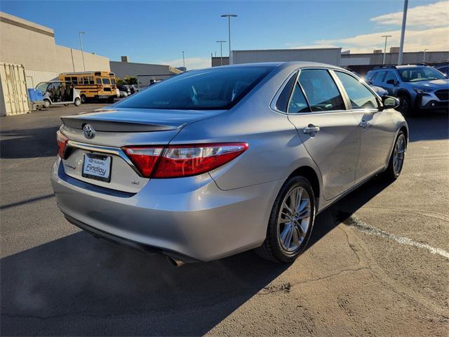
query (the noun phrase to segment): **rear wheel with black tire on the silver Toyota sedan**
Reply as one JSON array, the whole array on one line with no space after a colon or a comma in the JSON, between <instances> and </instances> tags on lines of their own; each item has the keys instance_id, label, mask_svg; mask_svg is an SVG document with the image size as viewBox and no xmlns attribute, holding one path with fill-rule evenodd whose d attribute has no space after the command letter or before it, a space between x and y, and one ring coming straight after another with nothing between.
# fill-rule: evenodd
<instances>
[{"instance_id":1,"label":"rear wheel with black tire on the silver Toyota sedan","mask_svg":"<svg viewBox=\"0 0 449 337\"><path fill-rule=\"evenodd\" d=\"M301 195L299 201L292 204L297 199L295 191ZM293 209L290 209L291 206ZM289 178L274 201L267 237L255 252L272 262L293 262L307 246L314 220L315 197L309 180L302 176Z\"/></svg>"}]
</instances>

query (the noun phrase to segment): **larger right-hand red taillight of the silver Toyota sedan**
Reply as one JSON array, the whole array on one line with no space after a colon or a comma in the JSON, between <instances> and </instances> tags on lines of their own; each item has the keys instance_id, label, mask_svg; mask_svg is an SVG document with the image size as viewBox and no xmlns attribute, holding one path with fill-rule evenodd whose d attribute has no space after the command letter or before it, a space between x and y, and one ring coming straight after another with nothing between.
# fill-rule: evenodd
<instances>
[{"instance_id":1,"label":"larger right-hand red taillight of the silver Toyota sedan","mask_svg":"<svg viewBox=\"0 0 449 337\"><path fill-rule=\"evenodd\" d=\"M142 176L179 178L216 169L248 149L246 143L123 147Z\"/></svg>"}]
</instances>

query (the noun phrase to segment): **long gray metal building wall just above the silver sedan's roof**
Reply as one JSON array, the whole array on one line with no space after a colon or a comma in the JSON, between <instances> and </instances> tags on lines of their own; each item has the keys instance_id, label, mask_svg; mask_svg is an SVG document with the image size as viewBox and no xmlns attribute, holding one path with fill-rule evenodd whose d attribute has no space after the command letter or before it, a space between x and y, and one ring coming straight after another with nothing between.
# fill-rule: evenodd
<instances>
[{"instance_id":1,"label":"long gray metal building wall just above the silver sedan's roof","mask_svg":"<svg viewBox=\"0 0 449 337\"><path fill-rule=\"evenodd\" d=\"M230 64L256 62L311 61L340 65L342 48L261 49L232 51Z\"/></svg>"}]
</instances>

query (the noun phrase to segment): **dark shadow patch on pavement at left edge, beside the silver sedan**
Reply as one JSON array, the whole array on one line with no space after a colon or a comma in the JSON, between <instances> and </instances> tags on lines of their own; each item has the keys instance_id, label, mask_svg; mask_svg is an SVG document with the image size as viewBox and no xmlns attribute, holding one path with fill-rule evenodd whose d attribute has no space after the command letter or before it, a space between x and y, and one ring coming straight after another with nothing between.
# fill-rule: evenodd
<instances>
[{"instance_id":1,"label":"dark shadow patch on pavement at left edge, beside the silver sedan","mask_svg":"<svg viewBox=\"0 0 449 337\"><path fill-rule=\"evenodd\" d=\"M56 131L59 127L2 130L0 158L20 159L56 155ZM6 139L5 139L6 138Z\"/></svg>"}]
</instances>

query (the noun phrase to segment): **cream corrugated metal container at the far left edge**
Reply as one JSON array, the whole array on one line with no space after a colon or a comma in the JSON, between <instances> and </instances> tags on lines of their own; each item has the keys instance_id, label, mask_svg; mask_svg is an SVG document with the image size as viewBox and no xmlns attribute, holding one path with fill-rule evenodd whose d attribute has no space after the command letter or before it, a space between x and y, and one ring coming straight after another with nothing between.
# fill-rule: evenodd
<instances>
[{"instance_id":1,"label":"cream corrugated metal container at the far left edge","mask_svg":"<svg viewBox=\"0 0 449 337\"><path fill-rule=\"evenodd\" d=\"M0 62L0 116L29 112L27 81L22 65Z\"/></svg>"}]
</instances>

